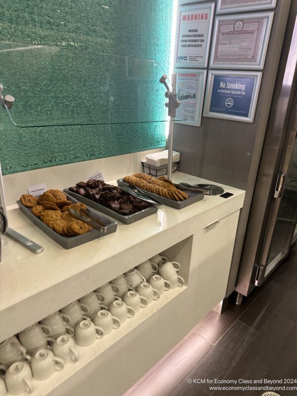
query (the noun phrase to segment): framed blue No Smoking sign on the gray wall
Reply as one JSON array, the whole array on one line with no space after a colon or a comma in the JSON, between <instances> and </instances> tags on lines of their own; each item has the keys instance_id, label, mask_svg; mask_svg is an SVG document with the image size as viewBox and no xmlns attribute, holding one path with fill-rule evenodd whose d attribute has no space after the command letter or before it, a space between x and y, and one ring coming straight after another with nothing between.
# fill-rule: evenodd
<instances>
[{"instance_id":1,"label":"framed blue No Smoking sign on the gray wall","mask_svg":"<svg viewBox=\"0 0 297 396\"><path fill-rule=\"evenodd\" d=\"M203 115L253 122L262 73L210 70Z\"/></svg>"}]
</instances>

